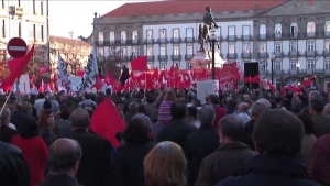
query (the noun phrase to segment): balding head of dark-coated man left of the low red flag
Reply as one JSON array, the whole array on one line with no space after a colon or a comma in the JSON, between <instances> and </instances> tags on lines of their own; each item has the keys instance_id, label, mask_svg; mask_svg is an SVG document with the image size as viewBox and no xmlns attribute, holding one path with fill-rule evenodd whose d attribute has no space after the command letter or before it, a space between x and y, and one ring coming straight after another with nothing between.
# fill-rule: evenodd
<instances>
[{"instance_id":1,"label":"balding head of dark-coated man left of the low red flag","mask_svg":"<svg viewBox=\"0 0 330 186\"><path fill-rule=\"evenodd\" d=\"M70 123L73 128L87 129L89 127L89 113L86 109L76 109L70 114Z\"/></svg>"}]
</instances>

